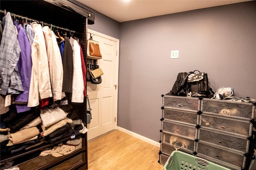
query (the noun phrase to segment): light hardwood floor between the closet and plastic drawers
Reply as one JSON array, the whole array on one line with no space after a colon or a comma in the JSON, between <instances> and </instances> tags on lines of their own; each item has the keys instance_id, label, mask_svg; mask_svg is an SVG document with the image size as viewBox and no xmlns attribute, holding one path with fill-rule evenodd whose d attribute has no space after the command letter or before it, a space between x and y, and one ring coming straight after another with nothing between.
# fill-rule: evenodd
<instances>
[{"instance_id":1,"label":"light hardwood floor between the closet and plastic drawers","mask_svg":"<svg viewBox=\"0 0 256 170\"><path fill-rule=\"evenodd\" d=\"M119 130L88 142L88 170L163 170L160 148Z\"/></svg>"}]
</instances>

